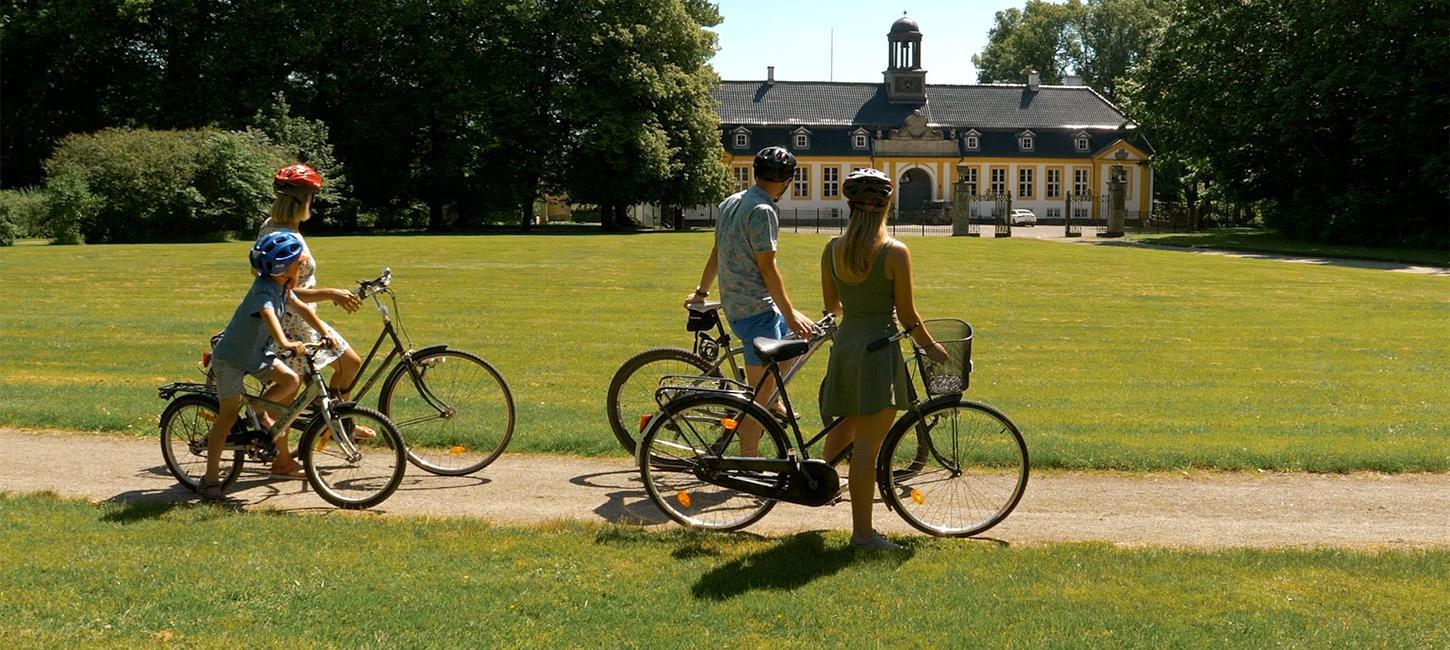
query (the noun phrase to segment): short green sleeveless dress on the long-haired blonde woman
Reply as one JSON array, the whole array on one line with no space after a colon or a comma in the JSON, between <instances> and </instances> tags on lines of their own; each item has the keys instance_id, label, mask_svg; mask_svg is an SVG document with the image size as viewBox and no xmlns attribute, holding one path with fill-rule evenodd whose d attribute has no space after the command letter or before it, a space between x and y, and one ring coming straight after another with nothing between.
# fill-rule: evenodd
<instances>
[{"instance_id":1,"label":"short green sleeveless dress on the long-haired blonde woman","mask_svg":"<svg viewBox=\"0 0 1450 650\"><path fill-rule=\"evenodd\" d=\"M896 334L896 296L892 281L886 277L886 250L876 254L871 270L857 284L841 281L835 273L835 255L826 244L822 264L831 268L831 281L841 296L841 326L831 344L831 361L825 380L821 382L821 415L844 418L848 415L870 415L884 408L905 411L906 369L902 364L900 344L890 344L876 351L866 347L884 337Z\"/></svg>"}]
</instances>

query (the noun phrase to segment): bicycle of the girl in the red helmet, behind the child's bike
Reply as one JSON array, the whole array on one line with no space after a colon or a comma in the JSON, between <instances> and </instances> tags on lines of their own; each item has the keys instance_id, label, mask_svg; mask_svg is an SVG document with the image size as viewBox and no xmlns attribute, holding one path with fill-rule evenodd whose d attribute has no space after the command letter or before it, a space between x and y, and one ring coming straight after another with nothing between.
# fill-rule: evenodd
<instances>
[{"instance_id":1,"label":"bicycle of the girl in the red helmet, behind the child's bike","mask_svg":"<svg viewBox=\"0 0 1450 650\"><path fill-rule=\"evenodd\" d=\"M393 271L386 267L377 279L358 281L354 293L360 299L373 300L383 318L383 331L352 383L342 392L361 400L387 371L378 389L377 409L406 434L407 461L441 476L478 472L497 460L513 438L513 393L503 376L477 354L448 345L413 350L412 340L402 326L402 312L397 309L392 281ZM387 306L378 300L384 293L392 299L393 312L399 315L396 328ZM393 342L393 348L368 376L367 383L354 392L386 340Z\"/></svg>"}]
</instances>

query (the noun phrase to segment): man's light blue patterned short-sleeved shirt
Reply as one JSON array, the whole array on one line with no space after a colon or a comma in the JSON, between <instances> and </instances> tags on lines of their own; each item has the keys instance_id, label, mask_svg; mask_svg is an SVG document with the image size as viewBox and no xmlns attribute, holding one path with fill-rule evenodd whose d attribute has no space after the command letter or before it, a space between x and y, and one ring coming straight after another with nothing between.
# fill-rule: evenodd
<instances>
[{"instance_id":1,"label":"man's light blue patterned short-sleeved shirt","mask_svg":"<svg viewBox=\"0 0 1450 650\"><path fill-rule=\"evenodd\" d=\"M742 321L776 309L755 255L776 250L780 218L766 190L751 186L721 202L715 225L715 257L725 318Z\"/></svg>"}]
</instances>

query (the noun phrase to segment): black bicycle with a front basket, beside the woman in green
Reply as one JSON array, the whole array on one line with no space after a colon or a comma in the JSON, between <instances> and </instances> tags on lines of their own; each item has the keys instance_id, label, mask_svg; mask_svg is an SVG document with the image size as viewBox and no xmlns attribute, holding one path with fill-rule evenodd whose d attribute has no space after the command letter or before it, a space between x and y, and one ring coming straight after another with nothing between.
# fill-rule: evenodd
<instances>
[{"instance_id":1,"label":"black bicycle with a front basket, beside the woman in green","mask_svg":"<svg viewBox=\"0 0 1450 650\"><path fill-rule=\"evenodd\" d=\"M829 319L828 319L829 321ZM876 461L876 482L887 508L922 532L970 537L1005 519L1027 489L1028 454L1021 431L1000 411L963 398L972 371L972 326L957 319L929 321L948 351L934 363L915 350L925 399L908 383L911 408L887 431ZM834 329L834 322L826 322ZM908 331L873 342L869 350L899 344ZM813 354L829 331L800 340L753 341L790 408L780 363ZM911 363L906 370L911 373ZM799 367L799 364L798 364ZM915 374L915 373L914 373ZM708 380L713 386L703 384ZM644 427L637 463L650 501L670 519L692 528L740 530L754 524L779 501L828 505L840 493L834 458L811 458L811 448L844 418L825 425L809 441L792 422L784 427L722 377L676 380L660 387L661 409ZM758 386L755 387L758 390ZM761 431L758 451L742 453L738 432Z\"/></svg>"}]
</instances>

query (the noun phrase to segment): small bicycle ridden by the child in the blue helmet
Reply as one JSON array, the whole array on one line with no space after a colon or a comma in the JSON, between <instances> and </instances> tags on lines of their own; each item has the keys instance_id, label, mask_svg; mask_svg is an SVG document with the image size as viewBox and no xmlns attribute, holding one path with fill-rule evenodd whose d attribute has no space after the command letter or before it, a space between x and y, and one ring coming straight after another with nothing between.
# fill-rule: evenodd
<instances>
[{"instance_id":1,"label":"small bicycle ridden by the child in the blue helmet","mask_svg":"<svg viewBox=\"0 0 1450 650\"><path fill-rule=\"evenodd\" d=\"M407 467L403 437L383 414L352 402L336 402L323 389L313 357L322 345L306 345L307 376L290 403L242 393L244 416L226 435L232 461L222 463L220 483L236 482L242 463L271 463L277 457L274 441L302 421L297 450L307 483L323 501L338 508L371 508L397 490ZM157 389L161 399L173 399L161 412L161 457L167 470L183 486L199 490L206 473L206 443L220 400L212 383L173 382ZM280 412L271 427L262 427L258 409ZM304 415L310 412L312 416ZM371 437L354 435L358 427ZM225 451L223 451L225 453Z\"/></svg>"}]
</instances>

